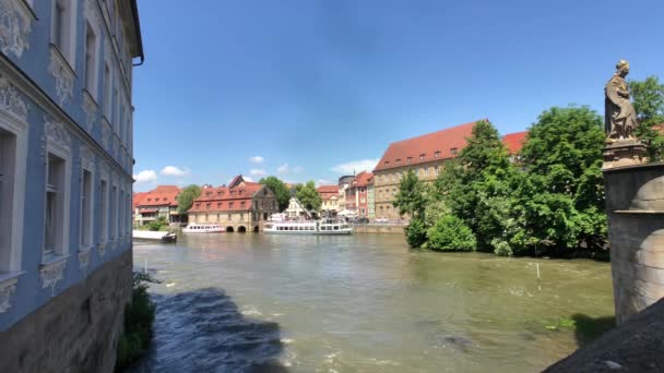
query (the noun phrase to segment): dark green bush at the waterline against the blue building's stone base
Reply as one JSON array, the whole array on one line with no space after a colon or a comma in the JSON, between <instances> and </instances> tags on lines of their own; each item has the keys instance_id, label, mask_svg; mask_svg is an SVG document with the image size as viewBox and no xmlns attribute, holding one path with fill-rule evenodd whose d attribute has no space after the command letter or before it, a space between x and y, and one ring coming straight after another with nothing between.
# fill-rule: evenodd
<instances>
[{"instance_id":1,"label":"dark green bush at the waterline against the blue building's stone base","mask_svg":"<svg viewBox=\"0 0 664 373\"><path fill-rule=\"evenodd\" d=\"M133 293L131 303L124 306L124 333L118 340L116 372L142 357L152 341L155 305L150 300L147 282L157 281L146 274L133 274Z\"/></svg>"}]
</instances>

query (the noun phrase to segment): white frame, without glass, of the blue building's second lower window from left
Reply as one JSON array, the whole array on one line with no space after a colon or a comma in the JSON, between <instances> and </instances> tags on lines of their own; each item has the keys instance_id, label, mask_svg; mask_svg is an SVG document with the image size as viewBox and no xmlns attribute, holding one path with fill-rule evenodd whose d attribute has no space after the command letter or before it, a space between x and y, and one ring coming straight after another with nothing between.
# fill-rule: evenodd
<instances>
[{"instance_id":1,"label":"white frame, without glass, of the blue building's second lower window from left","mask_svg":"<svg viewBox=\"0 0 664 373\"><path fill-rule=\"evenodd\" d=\"M46 253L45 244L46 237L44 237L44 242L42 244L42 258L44 263L49 263L56 261L60 257L67 256L69 254L69 222L70 220L70 197L71 197L71 154L69 149L61 147L59 144L47 141L46 143L46 165L45 177L44 180L44 197L46 198L46 192L48 189L48 158L50 155L54 155L63 161L63 180L62 180L62 191L59 196L61 198L59 204L62 208L62 221L59 222L59 227L56 228L58 231L58 243L56 248L54 248L54 252ZM46 200L44 201L44 225L46 225Z\"/></svg>"}]
</instances>

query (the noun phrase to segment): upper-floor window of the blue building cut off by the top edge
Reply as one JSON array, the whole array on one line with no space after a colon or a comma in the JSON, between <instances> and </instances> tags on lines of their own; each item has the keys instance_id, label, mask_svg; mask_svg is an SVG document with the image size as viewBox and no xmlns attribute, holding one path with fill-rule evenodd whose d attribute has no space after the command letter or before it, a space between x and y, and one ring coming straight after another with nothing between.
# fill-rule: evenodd
<instances>
[{"instance_id":1,"label":"upper-floor window of the blue building cut off by the top edge","mask_svg":"<svg viewBox=\"0 0 664 373\"><path fill-rule=\"evenodd\" d=\"M74 40L76 32L76 4L75 0L56 0L54 1L52 15L52 44L58 47L62 57L71 67L75 65L75 47Z\"/></svg>"}]
</instances>

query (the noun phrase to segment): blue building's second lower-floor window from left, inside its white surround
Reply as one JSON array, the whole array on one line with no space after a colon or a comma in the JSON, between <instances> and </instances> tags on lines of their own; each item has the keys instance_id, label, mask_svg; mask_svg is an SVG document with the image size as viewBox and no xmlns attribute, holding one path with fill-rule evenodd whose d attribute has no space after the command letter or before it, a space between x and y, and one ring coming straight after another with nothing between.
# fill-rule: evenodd
<instances>
[{"instance_id":1,"label":"blue building's second lower-floor window from left, inside its white surround","mask_svg":"<svg viewBox=\"0 0 664 373\"><path fill-rule=\"evenodd\" d=\"M64 253L64 159L49 153L46 165L44 254Z\"/></svg>"}]
</instances>

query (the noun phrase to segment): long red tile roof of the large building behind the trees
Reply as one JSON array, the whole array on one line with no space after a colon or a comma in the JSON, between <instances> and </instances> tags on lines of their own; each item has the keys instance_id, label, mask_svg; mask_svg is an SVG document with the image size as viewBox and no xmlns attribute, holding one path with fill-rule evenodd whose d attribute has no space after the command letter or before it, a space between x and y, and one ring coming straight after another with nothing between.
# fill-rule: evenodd
<instances>
[{"instance_id":1,"label":"long red tile roof of the large building behind the trees","mask_svg":"<svg viewBox=\"0 0 664 373\"><path fill-rule=\"evenodd\" d=\"M466 137L473 134L473 127L476 122L392 143L374 168L374 172L456 157L452 149L461 152L466 146ZM408 157L411 158L410 164Z\"/></svg>"}]
</instances>

